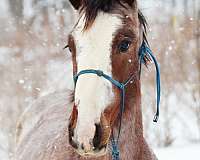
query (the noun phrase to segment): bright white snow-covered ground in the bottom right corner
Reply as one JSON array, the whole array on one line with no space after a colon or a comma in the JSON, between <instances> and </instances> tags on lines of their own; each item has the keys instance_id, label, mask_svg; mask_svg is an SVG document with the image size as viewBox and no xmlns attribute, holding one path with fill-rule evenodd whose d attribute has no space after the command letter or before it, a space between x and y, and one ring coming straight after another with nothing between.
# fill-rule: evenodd
<instances>
[{"instance_id":1,"label":"bright white snow-covered ground in the bottom right corner","mask_svg":"<svg viewBox=\"0 0 200 160\"><path fill-rule=\"evenodd\" d=\"M200 144L154 149L159 160L200 160Z\"/></svg>"}]
</instances>

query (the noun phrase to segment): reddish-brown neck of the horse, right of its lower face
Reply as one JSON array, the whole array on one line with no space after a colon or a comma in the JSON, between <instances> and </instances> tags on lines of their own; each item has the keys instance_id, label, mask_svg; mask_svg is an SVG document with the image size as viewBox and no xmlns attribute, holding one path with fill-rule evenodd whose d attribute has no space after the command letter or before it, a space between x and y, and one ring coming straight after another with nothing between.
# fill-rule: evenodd
<instances>
[{"instance_id":1,"label":"reddish-brown neck of the horse, right of its lower face","mask_svg":"<svg viewBox=\"0 0 200 160\"><path fill-rule=\"evenodd\" d=\"M152 160L151 153L143 138L140 82L126 91L125 113L123 114L119 139L122 159ZM118 127L115 127L115 131Z\"/></svg>"}]
</instances>

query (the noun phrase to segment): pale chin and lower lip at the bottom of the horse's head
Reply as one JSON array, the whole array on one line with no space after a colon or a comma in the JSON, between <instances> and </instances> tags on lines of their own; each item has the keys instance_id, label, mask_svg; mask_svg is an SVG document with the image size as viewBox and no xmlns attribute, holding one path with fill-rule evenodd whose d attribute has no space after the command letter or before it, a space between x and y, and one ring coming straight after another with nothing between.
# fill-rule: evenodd
<instances>
[{"instance_id":1,"label":"pale chin and lower lip at the bottom of the horse's head","mask_svg":"<svg viewBox=\"0 0 200 160\"><path fill-rule=\"evenodd\" d=\"M91 152L85 153L84 151L80 151L78 149L75 150L80 156L86 157L86 158L97 158L106 155L107 153L107 147L102 148L101 150L94 150Z\"/></svg>"}]
</instances>

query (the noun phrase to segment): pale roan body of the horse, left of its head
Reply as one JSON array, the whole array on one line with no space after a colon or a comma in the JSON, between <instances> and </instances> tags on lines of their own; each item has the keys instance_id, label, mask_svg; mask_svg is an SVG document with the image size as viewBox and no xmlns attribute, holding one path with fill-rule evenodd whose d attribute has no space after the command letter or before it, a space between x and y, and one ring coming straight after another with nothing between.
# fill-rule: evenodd
<instances>
[{"instance_id":1,"label":"pale roan body of the horse, left of its head","mask_svg":"<svg viewBox=\"0 0 200 160\"><path fill-rule=\"evenodd\" d=\"M21 132L15 151L16 160L85 160L69 144L68 119L72 110L69 93L42 97L22 114L18 125ZM100 159L108 158L94 160Z\"/></svg>"}]
</instances>

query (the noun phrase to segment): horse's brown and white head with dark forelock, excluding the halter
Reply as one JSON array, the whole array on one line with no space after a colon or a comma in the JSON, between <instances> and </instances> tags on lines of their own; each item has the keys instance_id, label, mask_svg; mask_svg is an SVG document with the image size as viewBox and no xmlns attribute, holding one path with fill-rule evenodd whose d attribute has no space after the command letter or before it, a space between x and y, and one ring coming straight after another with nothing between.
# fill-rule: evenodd
<instances>
[{"instance_id":1,"label":"horse's brown and white head with dark forelock, excluding the halter","mask_svg":"<svg viewBox=\"0 0 200 160\"><path fill-rule=\"evenodd\" d=\"M136 0L70 0L78 10L69 35L74 75L101 70L125 82L139 70L140 23ZM69 123L71 145L84 156L105 154L120 112L120 89L96 74L79 76Z\"/></svg>"}]
</instances>

